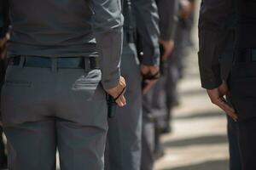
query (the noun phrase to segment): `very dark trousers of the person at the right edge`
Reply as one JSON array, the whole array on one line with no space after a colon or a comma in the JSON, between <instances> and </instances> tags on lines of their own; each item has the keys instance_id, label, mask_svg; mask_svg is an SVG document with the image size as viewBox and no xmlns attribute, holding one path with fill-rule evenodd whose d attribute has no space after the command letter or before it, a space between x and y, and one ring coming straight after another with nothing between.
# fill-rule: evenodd
<instances>
[{"instance_id":1,"label":"very dark trousers of the person at the right edge","mask_svg":"<svg viewBox=\"0 0 256 170\"><path fill-rule=\"evenodd\" d=\"M232 104L238 113L238 140L242 170L256 169L255 78L254 62L233 65L229 84Z\"/></svg>"}]
</instances>

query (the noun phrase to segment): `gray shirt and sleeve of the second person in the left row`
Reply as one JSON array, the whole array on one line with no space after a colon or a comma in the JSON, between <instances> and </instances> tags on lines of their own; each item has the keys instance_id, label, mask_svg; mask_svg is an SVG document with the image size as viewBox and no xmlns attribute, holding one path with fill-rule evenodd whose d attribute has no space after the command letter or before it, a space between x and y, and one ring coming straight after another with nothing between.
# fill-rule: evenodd
<instances>
[{"instance_id":1,"label":"gray shirt and sleeve of the second person in the left row","mask_svg":"<svg viewBox=\"0 0 256 170\"><path fill-rule=\"evenodd\" d=\"M159 65L159 16L154 0L124 0L123 2L124 30L126 33L132 31L133 35L138 31L143 42L142 64Z\"/></svg>"}]
</instances>

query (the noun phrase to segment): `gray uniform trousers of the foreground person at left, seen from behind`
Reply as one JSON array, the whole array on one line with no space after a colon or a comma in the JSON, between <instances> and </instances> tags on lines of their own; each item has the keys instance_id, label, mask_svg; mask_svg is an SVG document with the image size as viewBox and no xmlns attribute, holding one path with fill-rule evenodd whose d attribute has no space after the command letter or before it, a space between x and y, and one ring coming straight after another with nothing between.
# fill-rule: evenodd
<instances>
[{"instance_id":1,"label":"gray uniform trousers of the foreground person at left, seen from behind","mask_svg":"<svg viewBox=\"0 0 256 170\"><path fill-rule=\"evenodd\" d=\"M2 91L9 170L102 170L108 130L101 71L9 66Z\"/></svg>"}]
</instances>

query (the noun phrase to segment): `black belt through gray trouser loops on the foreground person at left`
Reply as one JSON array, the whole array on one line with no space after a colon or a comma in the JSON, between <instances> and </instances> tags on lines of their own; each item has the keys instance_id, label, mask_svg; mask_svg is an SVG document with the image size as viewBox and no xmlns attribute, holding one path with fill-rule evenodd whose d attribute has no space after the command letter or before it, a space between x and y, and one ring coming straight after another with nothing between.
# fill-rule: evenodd
<instances>
[{"instance_id":1,"label":"black belt through gray trouser loops on the foreground person at left","mask_svg":"<svg viewBox=\"0 0 256 170\"><path fill-rule=\"evenodd\" d=\"M40 67L56 69L100 69L97 57L38 57L38 56L15 56L9 58L9 65L24 67Z\"/></svg>"}]
</instances>

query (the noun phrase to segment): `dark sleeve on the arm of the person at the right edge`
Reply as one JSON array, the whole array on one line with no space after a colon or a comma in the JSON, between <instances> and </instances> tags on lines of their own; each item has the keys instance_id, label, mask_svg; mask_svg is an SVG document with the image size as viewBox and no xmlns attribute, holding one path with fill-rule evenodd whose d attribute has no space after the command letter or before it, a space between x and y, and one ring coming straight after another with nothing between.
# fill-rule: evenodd
<instances>
[{"instance_id":1,"label":"dark sleeve on the arm of the person at the right edge","mask_svg":"<svg viewBox=\"0 0 256 170\"><path fill-rule=\"evenodd\" d=\"M231 0L204 0L199 20L199 66L203 88L217 88L221 82L219 59L228 35Z\"/></svg>"}]
</instances>

